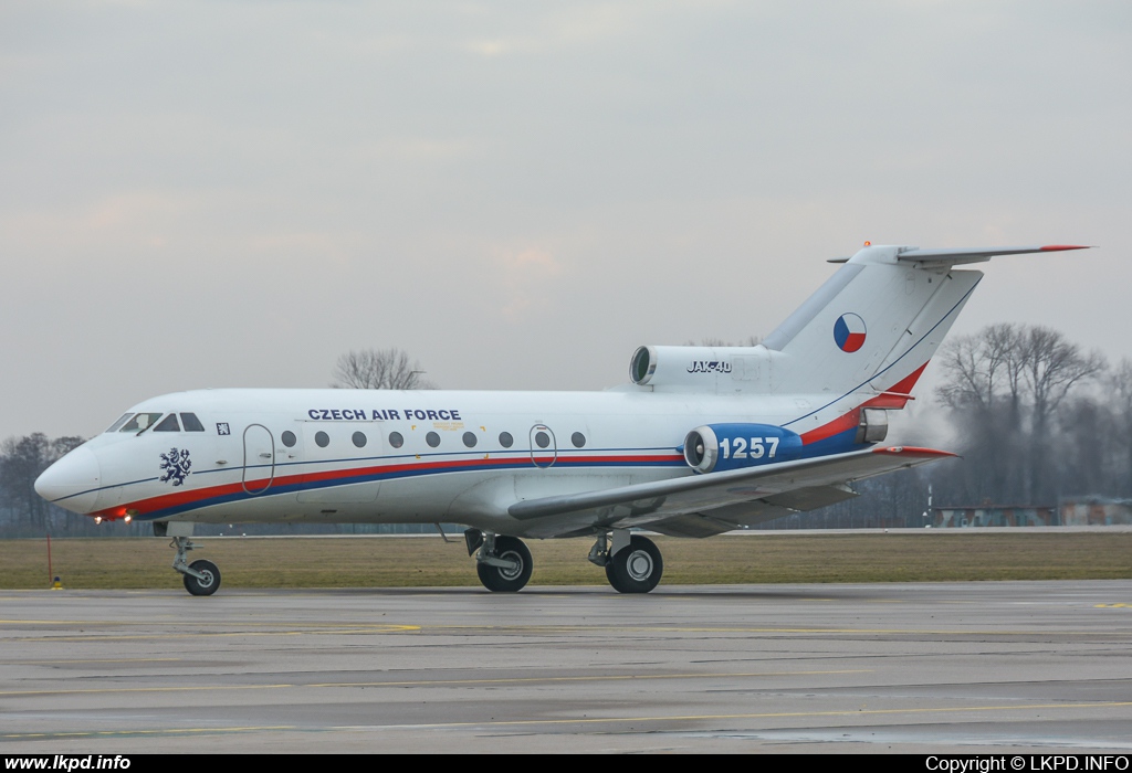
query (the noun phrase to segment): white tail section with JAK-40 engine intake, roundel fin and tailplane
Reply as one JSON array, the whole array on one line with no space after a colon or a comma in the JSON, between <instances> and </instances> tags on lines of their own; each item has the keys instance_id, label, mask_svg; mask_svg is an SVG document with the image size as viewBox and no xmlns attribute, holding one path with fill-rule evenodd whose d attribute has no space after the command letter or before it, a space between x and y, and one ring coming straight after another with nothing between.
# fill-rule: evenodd
<instances>
[{"instance_id":1,"label":"white tail section with JAK-40 engine intake, roundel fin and tailplane","mask_svg":"<svg viewBox=\"0 0 1132 773\"><path fill-rule=\"evenodd\" d=\"M865 391L873 407L900 408L983 278L954 266L1082 249L866 246L832 261L844 264L758 346L641 347L631 377L661 391L824 393L827 406Z\"/></svg>"}]
</instances>

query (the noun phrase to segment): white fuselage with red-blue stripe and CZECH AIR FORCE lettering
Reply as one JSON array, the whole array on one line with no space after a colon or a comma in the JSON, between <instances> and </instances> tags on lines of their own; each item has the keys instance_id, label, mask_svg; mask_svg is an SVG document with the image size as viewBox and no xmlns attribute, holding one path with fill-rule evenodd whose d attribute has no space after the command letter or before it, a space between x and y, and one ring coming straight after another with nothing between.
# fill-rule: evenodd
<instances>
[{"instance_id":1,"label":"white fuselage with red-blue stripe and CZECH AIR FORCE lettering","mask_svg":"<svg viewBox=\"0 0 1132 773\"><path fill-rule=\"evenodd\" d=\"M130 412L192 414L203 432L186 431L185 422L161 432L158 418L140 433L103 433L83 446L93 458L77 455L85 474L59 471L71 490L52 498L105 519L445 521L537 537L539 524L512 519L509 505L693 475L680 446L697 425L792 423L799 434L820 435L851 402L839 399L815 412L822 396L655 393L636 386L177 392Z\"/></svg>"}]
</instances>

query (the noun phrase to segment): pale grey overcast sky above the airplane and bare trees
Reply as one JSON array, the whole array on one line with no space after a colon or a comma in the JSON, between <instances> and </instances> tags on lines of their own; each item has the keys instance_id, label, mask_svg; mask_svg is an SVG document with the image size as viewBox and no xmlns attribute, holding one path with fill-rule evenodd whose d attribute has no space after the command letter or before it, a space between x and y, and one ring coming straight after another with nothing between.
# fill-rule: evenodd
<instances>
[{"instance_id":1,"label":"pale grey overcast sky above the airplane and bare trees","mask_svg":"<svg viewBox=\"0 0 1132 773\"><path fill-rule=\"evenodd\" d=\"M600 389L865 240L1132 356L1132 3L0 5L0 438L397 346Z\"/></svg>"}]
</instances>

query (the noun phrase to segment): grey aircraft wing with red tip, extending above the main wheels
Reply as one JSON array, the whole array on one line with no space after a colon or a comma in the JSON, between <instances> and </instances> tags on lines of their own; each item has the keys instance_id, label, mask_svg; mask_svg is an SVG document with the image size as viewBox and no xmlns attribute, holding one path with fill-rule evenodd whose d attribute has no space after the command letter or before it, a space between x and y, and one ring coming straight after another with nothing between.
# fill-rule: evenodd
<instances>
[{"instance_id":1,"label":"grey aircraft wing with red tip, extending above the main wheels","mask_svg":"<svg viewBox=\"0 0 1132 773\"><path fill-rule=\"evenodd\" d=\"M508 507L532 537L588 533L594 526L649 528L683 537L741 529L856 496L848 484L954 457L910 446L873 448L816 459L710 472L581 494L525 500Z\"/></svg>"}]
</instances>

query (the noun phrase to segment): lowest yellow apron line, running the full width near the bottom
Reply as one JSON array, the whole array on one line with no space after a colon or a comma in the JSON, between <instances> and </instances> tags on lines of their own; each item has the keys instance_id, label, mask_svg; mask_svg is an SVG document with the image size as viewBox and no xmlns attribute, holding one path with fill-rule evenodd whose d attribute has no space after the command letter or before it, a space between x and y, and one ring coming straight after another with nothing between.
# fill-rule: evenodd
<instances>
[{"instance_id":1,"label":"lowest yellow apron line, running the full width near the bottom","mask_svg":"<svg viewBox=\"0 0 1132 773\"><path fill-rule=\"evenodd\" d=\"M880 716L885 714L942 714L987 711L1035 711L1046 709L1117 709L1132 706L1132 701L1098 703L1023 703L1006 706L941 706L934 709L846 709L838 711L791 711L745 714L671 714L667 716L583 716L577 719L529 719L489 720L487 722L429 722L421 724L337 726L327 728L300 728L295 726L266 726L247 728L171 728L166 730L92 730L77 732L3 733L3 740L33 740L38 738L97 738L123 736L155 736L183 733L255 732L272 730L302 730L323 732L357 732L372 730L434 730L445 728L508 728L564 724L624 724L628 722L707 722L743 719L800 719L816 716Z\"/></svg>"}]
</instances>

